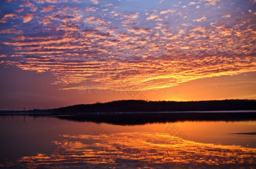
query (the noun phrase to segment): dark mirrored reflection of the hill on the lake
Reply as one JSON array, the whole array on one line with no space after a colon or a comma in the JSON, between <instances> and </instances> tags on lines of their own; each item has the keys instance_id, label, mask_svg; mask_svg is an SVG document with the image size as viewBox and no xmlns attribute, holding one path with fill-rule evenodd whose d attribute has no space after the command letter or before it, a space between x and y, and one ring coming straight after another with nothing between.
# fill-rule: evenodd
<instances>
[{"instance_id":1,"label":"dark mirrored reflection of the hill on the lake","mask_svg":"<svg viewBox=\"0 0 256 169\"><path fill-rule=\"evenodd\" d=\"M175 121L250 121L256 111L187 111L187 112L91 112L78 114L0 113L0 116L46 116L68 121L95 122L118 125L138 125Z\"/></svg>"}]
</instances>

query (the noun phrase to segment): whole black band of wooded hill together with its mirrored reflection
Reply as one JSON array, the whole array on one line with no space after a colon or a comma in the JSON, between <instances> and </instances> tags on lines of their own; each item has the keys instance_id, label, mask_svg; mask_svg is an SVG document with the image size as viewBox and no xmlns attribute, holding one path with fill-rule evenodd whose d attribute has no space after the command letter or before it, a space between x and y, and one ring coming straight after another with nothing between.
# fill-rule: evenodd
<instances>
[{"instance_id":1,"label":"whole black band of wooded hill together with its mirrored reflection","mask_svg":"<svg viewBox=\"0 0 256 169\"><path fill-rule=\"evenodd\" d=\"M256 100L121 100L45 110L0 111L0 115L54 116L71 121L120 125L171 121L247 121L256 120Z\"/></svg>"}]
</instances>

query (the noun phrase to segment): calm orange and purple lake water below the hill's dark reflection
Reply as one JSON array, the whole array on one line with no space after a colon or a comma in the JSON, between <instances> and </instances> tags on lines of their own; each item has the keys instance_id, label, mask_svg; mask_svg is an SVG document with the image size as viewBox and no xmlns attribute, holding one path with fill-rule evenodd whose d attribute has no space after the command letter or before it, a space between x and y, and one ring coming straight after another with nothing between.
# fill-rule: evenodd
<instances>
[{"instance_id":1,"label":"calm orange and purple lake water below the hill's dark reflection","mask_svg":"<svg viewBox=\"0 0 256 169\"><path fill-rule=\"evenodd\" d=\"M256 121L136 126L0 116L3 168L256 168Z\"/></svg>"}]
</instances>

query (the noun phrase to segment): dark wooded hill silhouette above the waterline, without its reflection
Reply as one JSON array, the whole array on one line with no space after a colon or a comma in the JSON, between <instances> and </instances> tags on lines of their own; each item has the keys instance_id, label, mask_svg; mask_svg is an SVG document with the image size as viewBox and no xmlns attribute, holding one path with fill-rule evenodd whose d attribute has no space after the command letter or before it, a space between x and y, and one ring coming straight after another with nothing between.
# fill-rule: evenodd
<instances>
[{"instance_id":1,"label":"dark wooded hill silhouette above the waterline, without its reflection","mask_svg":"<svg viewBox=\"0 0 256 169\"><path fill-rule=\"evenodd\" d=\"M79 104L53 109L54 113L161 112L161 111L232 111L256 110L256 100L144 101L120 100L107 103Z\"/></svg>"}]
</instances>

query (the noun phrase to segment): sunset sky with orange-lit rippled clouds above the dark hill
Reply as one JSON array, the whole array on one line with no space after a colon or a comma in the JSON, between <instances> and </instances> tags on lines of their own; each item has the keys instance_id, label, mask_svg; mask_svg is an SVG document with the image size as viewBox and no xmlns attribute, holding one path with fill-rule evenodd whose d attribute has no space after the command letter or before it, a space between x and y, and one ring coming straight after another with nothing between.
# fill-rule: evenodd
<instances>
[{"instance_id":1,"label":"sunset sky with orange-lit rippled clouds above the dark hill","mask_svg":"<svg viewBox=\"0 0 256 169\"><path fill-rule=\"evenodd\" d=\"M256 0L2 0L0 108L256 99Z\"/></svg>"}]
</instances>

